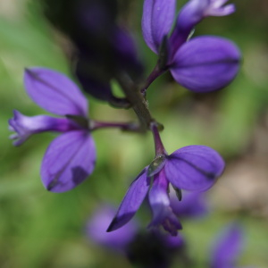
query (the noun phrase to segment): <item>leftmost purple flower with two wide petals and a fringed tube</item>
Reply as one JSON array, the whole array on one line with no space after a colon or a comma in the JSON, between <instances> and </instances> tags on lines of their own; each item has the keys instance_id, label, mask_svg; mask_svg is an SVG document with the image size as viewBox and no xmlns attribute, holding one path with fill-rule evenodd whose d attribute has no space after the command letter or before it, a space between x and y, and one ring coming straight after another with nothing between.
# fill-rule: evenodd
<instances>
[{"instance_id":1,"label":"leftmost purple flower with two wide petals and a fringed tube","mask_svg":"<svg viewBox=\"0 0 268 268\"><path fill-rule=\"evenodd\" d=\"M14 111L9 120L14 146L21 145L32 134L63 132L46 150L41 166L44 186L53 192L64 192L79 185L93 172L96 148L88 131L88 102L80 89L62 73L45 68L25 71L24 84L30 98L50 113L28 117Z\"/></svg>"}]
</instances>

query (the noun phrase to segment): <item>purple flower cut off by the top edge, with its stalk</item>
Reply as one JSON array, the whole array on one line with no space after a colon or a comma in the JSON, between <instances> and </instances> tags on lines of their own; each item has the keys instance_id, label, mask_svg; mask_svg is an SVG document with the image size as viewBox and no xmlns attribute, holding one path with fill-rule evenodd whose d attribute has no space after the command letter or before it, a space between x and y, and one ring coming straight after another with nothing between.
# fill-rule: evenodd
<instances>
[{"instance_id":1,"label":"purple flower cut off by the top edge, with its stalk","mask_svg":"<svg viewBox=\"0 0 268 268\"><path fill-rule=\"evenodd\" d=\"M174 19L175 2L144 2L143 36L147 46L159 54L159 61L148 79L149 83L163 71L169 70L174 80L195 92L209 92L227 86L239 71L238 47L227 39L212 36L187 40L203 18L233 13L234 5L222 7L226 0L191 0L182 8L172 35L168 38Z\"/></svg>"}]
</instances>

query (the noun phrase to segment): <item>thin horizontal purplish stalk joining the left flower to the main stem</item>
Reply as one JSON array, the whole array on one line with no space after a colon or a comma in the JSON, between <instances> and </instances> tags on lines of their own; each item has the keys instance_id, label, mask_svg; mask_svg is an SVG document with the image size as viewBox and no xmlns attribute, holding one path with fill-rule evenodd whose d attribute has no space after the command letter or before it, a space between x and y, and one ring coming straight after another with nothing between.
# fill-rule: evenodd
<instances>
[{"instance_id":1,"label":"thin horizontal purplish stalk joining the left flower to the main stem","mask_svg":"<svg viewBox=\"0 0 268 268\"><path fill-rule=\"evenodd\" d=\"M140 132L140 127L137 123L126 123L126 122L105 122L105 121L93 121L89 122L89 130L99 130L99 129L108 129L116 128L125 131Z\"/></svg>"}]
</instances>

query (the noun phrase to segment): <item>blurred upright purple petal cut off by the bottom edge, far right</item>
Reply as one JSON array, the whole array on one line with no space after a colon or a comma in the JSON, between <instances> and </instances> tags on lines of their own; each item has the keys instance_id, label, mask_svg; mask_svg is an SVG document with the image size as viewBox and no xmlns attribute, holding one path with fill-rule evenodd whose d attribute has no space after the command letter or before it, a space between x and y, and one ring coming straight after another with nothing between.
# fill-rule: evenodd
<instances>
[{"instance_id":1,"label":"blurred upright purple petal cut off by the bottom edge, far right","mask_svg":"<svg viewBox=\"0 0 268 268\"><path fill-rule=\"evenodd\" d=\"M238 256L243 247L243 231L237 223L230 224L220 237L214 241L211 268L236 267Z\"/></svg>"}]
</instances>

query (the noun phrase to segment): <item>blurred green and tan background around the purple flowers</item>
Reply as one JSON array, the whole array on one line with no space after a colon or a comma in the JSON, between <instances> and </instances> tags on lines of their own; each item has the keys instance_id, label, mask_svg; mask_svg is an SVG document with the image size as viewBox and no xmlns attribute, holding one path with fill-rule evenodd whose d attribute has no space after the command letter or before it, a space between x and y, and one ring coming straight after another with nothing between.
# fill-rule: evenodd
<instances>
[{"instance_id":1,"label":"blurred green and tan background around the purple flowers","mask_svg":"<svg viewBox=\"0 0 268 268\"><path fill-rule=\"evenodd\" d=\"M179 2L179 1L178 1ZM185 2L185 1L184 1ZM167 151L191 144L218 150L227 162L224 175L207 193L212 213L202 221L182 222L190 255L205 267L214 236L239 219L245 228L240 266L268 267L268 3L233 1L237 13L209 18L195 35L218 35L241 49L243 64L228 88L197 95L172 81L156 80L147 99L154 117L163 122ZM182 3L179 3L180 5ZM137 38L147 73L156 56L140 33L142 1L131 1L128 27ZM119 205L141 169L154 157L152 137L99 130L95 172L78 188L63 194L47 192L39 167L55 137L45 133L21 147L8 139L7 121L13 109L27 115L46 113L23 89L23 69L44 66L69 73L69 43L46 22L35 1L0 0L0 266L13 267L131 267L126 259L91 243L84 227L101 202ZM130 121L130 111L113 109L90 98L96 120ZM148 223L148 216L143 226ZM174 264L174 267L176 264Z\"/></svg>"}]
</instances>

